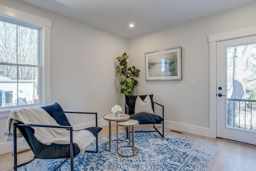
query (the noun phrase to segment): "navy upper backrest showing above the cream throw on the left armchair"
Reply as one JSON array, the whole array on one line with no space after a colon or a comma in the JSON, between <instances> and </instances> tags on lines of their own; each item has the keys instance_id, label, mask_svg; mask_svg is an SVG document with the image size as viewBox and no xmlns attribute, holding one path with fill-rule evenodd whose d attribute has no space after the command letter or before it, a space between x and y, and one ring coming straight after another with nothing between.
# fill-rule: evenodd
<instances>
[{"instance_id":1,"label":"navy upper backrest showing above the cream throw on the left armchair","mask_svg":"<svg viewBox=\"0 0 256 171\"><path fill-rule=\"evenodd\" d=\"M42 109L44 109L47 113L49 113L49 115L51 115L51 117L53 117L53 119L56 120L56 122L59 125L71 126L63 109L61 108L61 106L58 103L54 103L53 105L44 106L44 107L42 107Z\"/></svg>"}]
</instances>

